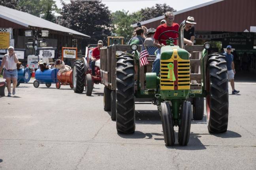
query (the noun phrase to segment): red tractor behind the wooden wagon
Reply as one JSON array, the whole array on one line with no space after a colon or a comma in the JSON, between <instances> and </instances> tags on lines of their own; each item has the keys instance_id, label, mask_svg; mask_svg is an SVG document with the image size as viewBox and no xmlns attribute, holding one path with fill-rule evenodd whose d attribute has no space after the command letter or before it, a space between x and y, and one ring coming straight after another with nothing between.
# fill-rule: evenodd
<instances>
[{"instance_id":1,"label":"red tractor behind the wooden wagon","mask_svg":"<svg viewBox=\"0 0 256 170\"><path fill-rule=\"evenodd\" d=\"M97 46L97 45L96 45ZM101 83L100 74L100 60L95 61L95 76L92 76L92 69L90 67L90 52L92 46L88 46L86 57L77 59L73 66L73 89L75 93L82 93L84 91L87 96L92 94L93 85Z\"/></svg>"}]
</instances>

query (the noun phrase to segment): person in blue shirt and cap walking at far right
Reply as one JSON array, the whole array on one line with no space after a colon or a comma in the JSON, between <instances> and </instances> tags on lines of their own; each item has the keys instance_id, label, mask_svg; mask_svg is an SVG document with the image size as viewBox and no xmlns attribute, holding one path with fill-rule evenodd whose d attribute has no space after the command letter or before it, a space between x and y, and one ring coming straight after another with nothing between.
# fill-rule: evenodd
<instances>
[{"instance_id":1,"label":"person in blue shirt and cap walking at far right","mask_svg":"<svg viewBox=\"0 0 256 170\"><path fill-rule=\"evenodd\" d=\"M227 69L228 69L228 80L230 80L230 85L232 87L232 94L237 94L240 91L235 90L235 65L233 62L234 56L231 54L232 46L227 46L227 52L223 53L226 56Z\"/></svg>"}]
</instances>

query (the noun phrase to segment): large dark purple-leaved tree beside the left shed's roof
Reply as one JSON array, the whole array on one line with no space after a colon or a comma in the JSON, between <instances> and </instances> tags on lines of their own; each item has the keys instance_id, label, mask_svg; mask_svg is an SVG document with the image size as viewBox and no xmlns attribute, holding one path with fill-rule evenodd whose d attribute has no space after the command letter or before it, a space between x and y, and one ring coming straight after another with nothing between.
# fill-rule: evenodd
<instances>
[{"instance_id":1,"label":"large dark purple-leaved tree beside the left shed's roof","mask_svg":"<svg viewBox=\"0 0 256 170\"><path fill-rule=\"evenodd\" d=\"M90 35L90 43L106 41L111 35L111 13L101 1L71 0L70 4L62 1L62 5L60 25Z\"/></svg>"}]
</instances>

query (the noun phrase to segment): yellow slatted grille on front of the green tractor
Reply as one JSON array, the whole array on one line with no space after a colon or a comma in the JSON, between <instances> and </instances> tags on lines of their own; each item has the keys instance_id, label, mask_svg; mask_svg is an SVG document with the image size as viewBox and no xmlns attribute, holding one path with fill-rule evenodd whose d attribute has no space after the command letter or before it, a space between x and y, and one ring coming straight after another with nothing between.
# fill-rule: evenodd
<instances>
[{"instance_id":1,"label":"yellow slatted grille on front of the green tractor","mask_svg":"<svg viewBox=\"0 0 256 170\"><path fill-rule=\"evenodd\" d=\"M176 81L168 79L169 69L167 65L173 63ZM174 76L173 75L173 76ZM173 49L171 59L160 61L160 86L161 90L186 90L190 89L190 62L189 59L181 59L177 49Z\"/></svg>"}]
</instances>

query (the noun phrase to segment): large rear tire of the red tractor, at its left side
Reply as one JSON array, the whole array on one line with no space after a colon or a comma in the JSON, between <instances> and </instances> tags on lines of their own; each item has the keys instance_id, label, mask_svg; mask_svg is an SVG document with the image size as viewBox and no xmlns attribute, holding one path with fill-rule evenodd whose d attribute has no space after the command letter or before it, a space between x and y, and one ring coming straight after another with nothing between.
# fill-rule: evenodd
<instances>
[{"instance_id":1,"label":"large rear tire of the red tractor, at its left side","mask_svg":"<svg viewBox=\"0 0 256 170\"><path fill-rule=\"evenodd\" d=\"M85 86L85 65L82 60L75 60L73 66L73 90L82 93Z\"/></svg>"}]
</instances>

